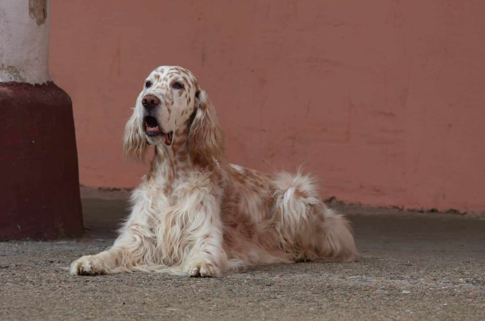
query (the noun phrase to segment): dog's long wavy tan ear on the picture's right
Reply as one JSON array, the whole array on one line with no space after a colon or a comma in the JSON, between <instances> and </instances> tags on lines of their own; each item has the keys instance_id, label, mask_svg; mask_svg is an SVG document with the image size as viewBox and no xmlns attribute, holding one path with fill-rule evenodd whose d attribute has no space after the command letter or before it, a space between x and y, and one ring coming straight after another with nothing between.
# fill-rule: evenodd
<instances>
[{"instance_id":1,"label":"dog's long wavy tan ear on the picture's right","mask_svg":"<svg viewBox=\"0 0 485 321\"><path fill-rule=\"evenodd\" d=\"M189 152L194 162L202 166L224 165L224 138L215 108L207 93L195 94L194 120L189 129Z\"/></svg>"}]
</instances>

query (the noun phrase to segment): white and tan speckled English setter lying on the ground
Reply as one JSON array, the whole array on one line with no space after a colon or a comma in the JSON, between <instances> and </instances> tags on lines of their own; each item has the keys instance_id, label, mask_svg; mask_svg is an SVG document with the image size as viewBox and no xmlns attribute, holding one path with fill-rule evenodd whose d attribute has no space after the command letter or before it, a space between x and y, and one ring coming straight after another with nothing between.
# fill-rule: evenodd
<instances>
[{"instance_id":1,"label":"white and tan speckled English setter lying on the ground","mask_svg":"<svg viewBox=\"0 0 485 321\"><path fill-rule=\"evenodd\" d=\"M353 261L348 221L300 171L263 174L229 164L214 106L194 75L161 66L144 82L124 133L127 160L148 174L112 247L74 261L73 275L128 271L218 277L247 266Z\"/></svg>"}]
</instances>

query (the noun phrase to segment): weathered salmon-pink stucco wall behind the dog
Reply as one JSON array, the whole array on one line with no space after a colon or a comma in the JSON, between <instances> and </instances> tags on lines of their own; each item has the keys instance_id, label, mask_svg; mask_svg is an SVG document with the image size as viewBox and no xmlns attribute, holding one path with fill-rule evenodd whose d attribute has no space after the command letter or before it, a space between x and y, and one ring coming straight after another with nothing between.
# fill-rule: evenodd
<instances>
[{"instance_id":1,"label":"weathered salmon-pink stucco wall behind the dog","mask_svg":"<svg viewBox=\"0 0 485 321\"><path fill-rule=\"evenodd\" d=\"M124 124L150 70L178 64L233 162L306 162L345 202L485 210L484 1L216 2L52 0L50 73L73 100L82 184L138 184Z\"/></svg>"}]
</instances>

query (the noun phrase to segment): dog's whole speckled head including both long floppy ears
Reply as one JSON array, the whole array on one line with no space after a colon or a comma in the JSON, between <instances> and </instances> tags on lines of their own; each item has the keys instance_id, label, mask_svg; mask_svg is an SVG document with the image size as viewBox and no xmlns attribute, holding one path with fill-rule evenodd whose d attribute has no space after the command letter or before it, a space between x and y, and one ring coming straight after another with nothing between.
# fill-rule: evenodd
<instances>
[{"instance_id":1,"label":"dog's whole speckled head including both long floppy ears","mask_svg":"<svg viewBox=\"0 0 485 321\"><path fill-rule=\"evenodd\" d=\"M188 140L195 162L210 164L223 157L222 133L206 92L189 70L161 66L144 81L125 126L124 155L142 161L148 144L171 148L177 140Z\"/></svg>"}]
</instances>

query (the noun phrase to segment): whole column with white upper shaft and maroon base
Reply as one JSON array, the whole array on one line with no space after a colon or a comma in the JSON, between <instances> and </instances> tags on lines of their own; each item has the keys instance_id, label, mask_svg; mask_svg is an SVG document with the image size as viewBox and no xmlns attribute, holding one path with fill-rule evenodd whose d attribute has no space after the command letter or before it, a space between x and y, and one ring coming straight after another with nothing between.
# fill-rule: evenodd
<instances>
[{"instance_id":1,"label":"whole column with white upper shaft and maroon base","mask_svg":"<svg viewBox=\"0 0 485 321\"><path fill-rule=\"evenodd\" d=\"M0 239L82 234L72 102L49 76L49 0L0 2Z\"/></svg>"}]
</instances>

